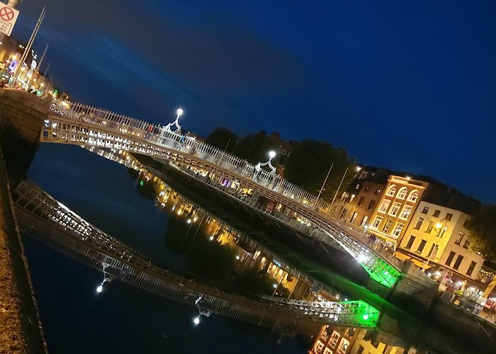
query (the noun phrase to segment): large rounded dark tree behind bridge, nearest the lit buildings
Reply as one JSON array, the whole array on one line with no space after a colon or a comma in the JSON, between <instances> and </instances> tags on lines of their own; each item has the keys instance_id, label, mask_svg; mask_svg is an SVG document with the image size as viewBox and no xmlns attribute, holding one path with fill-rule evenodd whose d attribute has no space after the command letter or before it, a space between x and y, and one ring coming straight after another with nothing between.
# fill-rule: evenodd
<instances>
[{"instance_id":1,"label":"large rounded dark tree behind bridge, nearest the lit buildings","mask_svg":"<svg viewBox=\"0 0 496 354\"><path fill-rule=\"evenodd\" d=\"M348 156L346 150L336 149L328 142L304 140L291 151L286 160L284 176L288 181L318 194L332 163L334 165L322 192L322 198L330 200L336 193L346 168L349 170L342 183L342 190L356 172L351 166L354 160Z\"/></svg>"}]
</instances>

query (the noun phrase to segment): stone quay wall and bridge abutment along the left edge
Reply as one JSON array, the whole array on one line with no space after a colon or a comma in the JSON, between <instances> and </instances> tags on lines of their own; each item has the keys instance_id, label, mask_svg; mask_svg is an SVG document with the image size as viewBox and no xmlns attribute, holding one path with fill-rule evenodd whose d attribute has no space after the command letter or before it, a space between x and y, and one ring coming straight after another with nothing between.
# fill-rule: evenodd
<instances>
[{"instance_id":1,"label":"stone quay wall and bridge abutment along the left edge","mask_svg":"<svg viewBox=\"0 0 496 354\"><path fill-rule=\"evenodd\" d=\"M47 353L6 165L16 183L26 175L49 106L33 94L0 89L0 353Z\"/></svg>"}]
</instances>

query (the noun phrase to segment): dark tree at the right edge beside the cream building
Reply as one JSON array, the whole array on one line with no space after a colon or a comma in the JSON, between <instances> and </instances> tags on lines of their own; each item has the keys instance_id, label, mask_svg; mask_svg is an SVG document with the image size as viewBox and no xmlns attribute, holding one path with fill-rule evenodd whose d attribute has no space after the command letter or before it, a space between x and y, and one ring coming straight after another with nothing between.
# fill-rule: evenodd
<instances>
[{"instance_id":1,"label":"dark tree at the right edge beside the cream building","mask_svg":"<svg viewBox=\"0 0 496 354\"><path fill-rule=\"evenodd\" d=\"M470 248L496 260L496 205L484 205L467 224L470 229Z\"/></svg>"}]
</instances>

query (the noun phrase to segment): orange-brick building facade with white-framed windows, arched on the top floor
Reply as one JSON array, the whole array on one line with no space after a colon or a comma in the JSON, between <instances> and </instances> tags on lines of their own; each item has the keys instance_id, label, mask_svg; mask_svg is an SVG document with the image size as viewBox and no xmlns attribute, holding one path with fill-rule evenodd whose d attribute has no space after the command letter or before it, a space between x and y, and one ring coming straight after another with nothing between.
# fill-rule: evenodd
<instances>
[{"instance_id":1,"label":"orange-brick building facade with white-framed windows, arched on the top floor","mask_svg":"<svg viewBox=\"0 0 496 354\"><path fill-rule=\"evenodd\" d=\"M379 238L398 246L429 183L409 177L389 176L384 193L368 224Z\"/></svg>"}]
</instances>

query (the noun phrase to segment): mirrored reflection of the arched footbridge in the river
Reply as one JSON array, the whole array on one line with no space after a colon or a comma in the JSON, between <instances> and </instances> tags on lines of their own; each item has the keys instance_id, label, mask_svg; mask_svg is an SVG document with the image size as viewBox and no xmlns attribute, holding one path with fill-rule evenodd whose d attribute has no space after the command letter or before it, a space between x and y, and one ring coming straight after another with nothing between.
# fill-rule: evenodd
<instances>
[{"instance_id":1,"label":"mirrored reflection of the arched footbridge in the river","mask_svg":"<svg viewBox=\"0 0 496 354\"><path fill-rule=\"evenodd\" d=\"M121 280L153 294L260 326L314 334L322 324L373 328L379 312L365 302L307 302L263 297L249 299L193 282L154 265L150 259L86 222L24 181L13 192L16 219L23 234L101 270L104 282ZM103 286L103 282L102 282Z\"/></svg>"}]
</instances>

